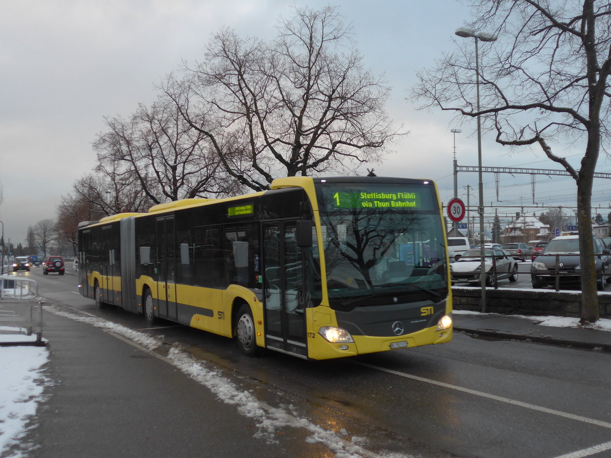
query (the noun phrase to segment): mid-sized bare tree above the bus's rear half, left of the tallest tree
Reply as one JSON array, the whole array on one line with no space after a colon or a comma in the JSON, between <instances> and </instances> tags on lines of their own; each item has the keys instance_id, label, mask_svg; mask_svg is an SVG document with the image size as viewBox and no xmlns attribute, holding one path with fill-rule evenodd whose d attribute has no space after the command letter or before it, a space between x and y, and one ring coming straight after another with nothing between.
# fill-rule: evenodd
<instances>
[{"instance_id":1,"label":"mid-sized bare tree above the bus's rear half, left of the tallest tree","mask_svg":"<svg viewBox=\"0 0 611 458\"><path fill-rule=\"evenodd\" d=\"M139 105L130 120L107 118L109 130L94 144L97 170L113 184L132 186L152 203L236 192L210 150L207 138L192 129L174 103ZM118 198L119 189L114 189Z\"/></svg>"}]
</instances>

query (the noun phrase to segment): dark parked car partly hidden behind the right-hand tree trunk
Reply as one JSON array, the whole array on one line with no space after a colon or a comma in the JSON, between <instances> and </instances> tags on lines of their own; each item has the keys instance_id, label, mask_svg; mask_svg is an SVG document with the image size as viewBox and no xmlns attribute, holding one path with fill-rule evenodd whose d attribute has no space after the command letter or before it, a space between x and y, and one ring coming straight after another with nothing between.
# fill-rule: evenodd
<instances>
[{"instance_id":1,"label":"dark parked car partly hidden behind the right-hand tree trunk","mask_svg":"<svg viewBox=\"0 0 611 458\"><path fill-rule=\"evenodd\" d=\"M594 237L594 262L598 289L605 288L611 280L611 250L602 239ZM530 266L530 280L533 288L555 286L581 286L579 236L565 235L549 241L543 253Z\"/></svg>"}]
</instances>

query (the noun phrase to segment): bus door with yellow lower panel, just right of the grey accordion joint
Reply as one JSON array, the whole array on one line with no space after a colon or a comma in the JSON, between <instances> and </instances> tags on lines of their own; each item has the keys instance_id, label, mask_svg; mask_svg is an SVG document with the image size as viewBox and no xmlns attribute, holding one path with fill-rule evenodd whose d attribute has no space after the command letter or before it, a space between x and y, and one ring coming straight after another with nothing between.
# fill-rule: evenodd
<instances>
[{"instance_id":1,"label":"bus door with yellow lower panel, just right of the grey accordion joint","mask_svg":"<svg viewBox=\"0 0 611 458\"><path fill-rule=\"evenodd\" d=\"M174 217L157 219L157 307L159 317L178 320L176 305L176 244Z\"/></svg>"}]
</instances>

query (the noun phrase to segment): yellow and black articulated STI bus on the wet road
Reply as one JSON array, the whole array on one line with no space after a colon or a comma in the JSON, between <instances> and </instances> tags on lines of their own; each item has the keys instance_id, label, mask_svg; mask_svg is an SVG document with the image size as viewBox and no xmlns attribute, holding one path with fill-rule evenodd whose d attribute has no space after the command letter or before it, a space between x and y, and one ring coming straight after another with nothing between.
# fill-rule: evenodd
<instances>
[{"instance_id":1,"label":"yellow and black articulated STI bus on the wet road","mask_svg":"<svg viewBox=\"0 0 611 458\"><path fill-rule=\"evenodd\" d=\"M432 181L305 176L79 224L80 291L315 360L452 340Z\"/></svg>"}]
</instances>

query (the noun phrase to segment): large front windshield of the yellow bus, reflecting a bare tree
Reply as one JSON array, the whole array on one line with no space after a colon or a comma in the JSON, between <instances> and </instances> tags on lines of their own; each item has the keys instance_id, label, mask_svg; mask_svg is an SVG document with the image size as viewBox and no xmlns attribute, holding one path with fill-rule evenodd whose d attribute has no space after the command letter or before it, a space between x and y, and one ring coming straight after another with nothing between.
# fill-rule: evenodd
<instances>
[{"instance_id":1,"label":"large front windshield of the yellow bus, reflecting a bare tree","mask_svg":"<svg viewBox=\"0 0 611 458\"><path fill-rule=\"evenodd\" d=\"M359 297L368 305L410 302L423 293L434 302L445 299L443 225L433 184L321 183L318 205L332 306Z\"/></svg>"}]
</instances>

